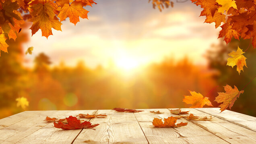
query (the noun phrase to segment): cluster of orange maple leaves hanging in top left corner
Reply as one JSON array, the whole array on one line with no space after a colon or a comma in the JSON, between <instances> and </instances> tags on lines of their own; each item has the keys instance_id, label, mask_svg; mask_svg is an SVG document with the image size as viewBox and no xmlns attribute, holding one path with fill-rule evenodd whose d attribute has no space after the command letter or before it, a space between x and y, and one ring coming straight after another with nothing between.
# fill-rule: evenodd
<instances>
[{"instance_id":1,"label":"cluster of orange maple leaves hanging in top left corner","mask_svg":"<svg viewBox=\"0 0 256 144\"><path fill-rule=\"evenodd\" d=\"M69 18L75 24L79 17L87 18L85 6L94 0L1 0L0 1L0 51L8 52L6 39L16 39L25 20L32 22L32 35L39 29L46 38L52 28L61 31L62 21Z\"/></svg>"}]
</instances>

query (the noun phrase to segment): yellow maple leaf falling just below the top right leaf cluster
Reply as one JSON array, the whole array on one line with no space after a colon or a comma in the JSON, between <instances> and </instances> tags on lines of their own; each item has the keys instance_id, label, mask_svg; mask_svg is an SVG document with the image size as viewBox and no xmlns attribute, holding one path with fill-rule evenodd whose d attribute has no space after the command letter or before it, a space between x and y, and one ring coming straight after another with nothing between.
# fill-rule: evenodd
<instances>
[{"instance_id":1,"label":"yellow maple leaf falling just below the top right leaf cluster","mask_svg":"<svg viewBox=\"0 0 256 144\"><path fill-rule=\"evenodd\" d=\"M245 52L243 52L239 46L237 48L236 52L229 53L229 56L232 56L233 58L227 59L227 66L232 66L232 68L236 65L236 70L240 74L241 70L244 71L244 66L246 66L246 57L243 55ZM247 67L247 66L246 66Z\"/></svg>"}]
</instances>

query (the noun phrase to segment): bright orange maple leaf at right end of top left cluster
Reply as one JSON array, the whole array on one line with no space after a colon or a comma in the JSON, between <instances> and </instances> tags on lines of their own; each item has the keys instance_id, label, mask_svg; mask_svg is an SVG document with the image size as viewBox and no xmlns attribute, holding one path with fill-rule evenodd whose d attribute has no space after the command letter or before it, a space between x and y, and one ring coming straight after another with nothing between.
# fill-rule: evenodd
<instances>
[{"instance_id":1,"label":"bright orange maple leaf at right end of top left cluster","mask_svg":"<svg viewBox=\"0 0 256 144\"><path fill-rule=\"evenodd\" d=\"M88 12L89 11L83 8L83 2L74 1L71 4L64 4L60 10L60 14L58 14L58 17L60 18L60 21L69 17L70 22L76 25L76 23L79 22L79 16L81 18L87 18Z\"/></svg>"}]
</instances>

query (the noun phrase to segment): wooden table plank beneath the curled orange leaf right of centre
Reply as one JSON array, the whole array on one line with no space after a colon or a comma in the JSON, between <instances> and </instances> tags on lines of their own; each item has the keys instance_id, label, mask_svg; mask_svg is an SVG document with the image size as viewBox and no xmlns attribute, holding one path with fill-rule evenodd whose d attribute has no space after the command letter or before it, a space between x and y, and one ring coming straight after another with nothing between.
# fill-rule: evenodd
<instances>
[{"instance_id":1,"label":"wooden table plank beneath the curled orange leaf right of centre","mask_svg":"<svg viewBox=\"0 0 256 144\"><path fill-rule=\"evenodd\" d=\"M165 113L152 114L151 110ZM177 116L171 114L168 109L147 109L144 112L134 113L134 115L150 144L228 144L225 140L184 118L177 120L177 123L188 122L188 125L180 128L154 128L151 126L154 118Z\"/></svg>"}]
</instances>

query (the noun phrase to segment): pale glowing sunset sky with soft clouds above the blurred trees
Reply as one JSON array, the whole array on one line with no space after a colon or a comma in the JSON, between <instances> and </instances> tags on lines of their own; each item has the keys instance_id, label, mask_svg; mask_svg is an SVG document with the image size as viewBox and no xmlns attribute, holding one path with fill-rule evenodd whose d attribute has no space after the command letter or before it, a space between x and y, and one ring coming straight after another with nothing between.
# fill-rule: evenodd
<instances>
[{"instance_id":1,"label":"pale glowing sunset sky with soft clouds above the blurred trees","mask_svg":"<svg viewBox=\"0 0 256 144\"><path fill-rule=\"evenodd\" d=\"M34 34L24 44L24 50L34 47L33 54L25 56L27 65L32 66L41 52L50 56L53 65L64 61L75 66L83 60L90 68L114 63L129 69L170 56L187 56L194 64L206 64L203 54L218 42L221 28L204 23L205 17L198 17L202 9L190 1L174 2L173 8L162 12L153 9L148 0L95 2L97 5L86 7L89 20L80 18L74 26L66 19L62 32L53 30L48 39L40 30Z\"/></svg>"}]
</instances>

